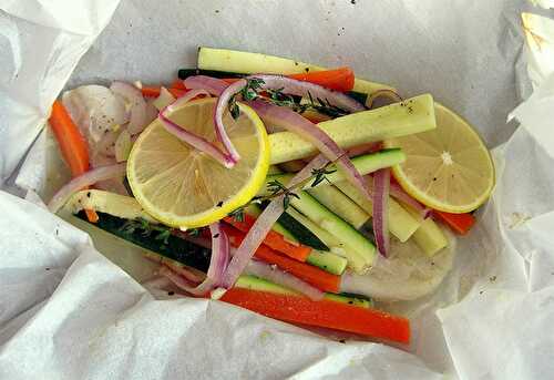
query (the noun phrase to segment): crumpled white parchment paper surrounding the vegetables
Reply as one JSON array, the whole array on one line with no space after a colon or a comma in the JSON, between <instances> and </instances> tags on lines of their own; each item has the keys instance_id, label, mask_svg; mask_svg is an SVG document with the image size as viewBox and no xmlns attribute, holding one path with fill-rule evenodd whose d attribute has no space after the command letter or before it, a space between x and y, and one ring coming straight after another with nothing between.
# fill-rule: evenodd
<instances>
[{"instance_id":1,"label":"crumpled white parchment paper surrounding the vegetables","mask_svg":"<svg viewBox=\"0 0 554 380\"><path fill-rule=\"evenodd\" d=\"M506 124L519 96L531 91L520 59L526 6L127 0L116 7L107 0L0 1L1 178L13 178L64 85L170 82L178 68L194 66L196 47L204 44L348 64L406 95L431 92L497 146L497 188L475 229L459 240L454 270L439 291L389 306L412 320L413 343L402 349L343 345L220 302L153 296L136 283L152 266L137 263L135 251L99 232L91 234L94 248L86 234L41 206L0 192L0 378L554 374L554 338L545 333L554 318L554 155L547 143L554 137L545 124L554 116L554 80L534 81L538 90L514 112L523 127L513 133L516 123ZM52 147L42 133L19 186L48 197L65 181ZM28 199L39 201L33 193Z\"/></svg>"}]
</instances>

